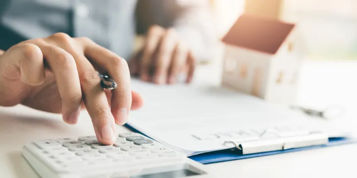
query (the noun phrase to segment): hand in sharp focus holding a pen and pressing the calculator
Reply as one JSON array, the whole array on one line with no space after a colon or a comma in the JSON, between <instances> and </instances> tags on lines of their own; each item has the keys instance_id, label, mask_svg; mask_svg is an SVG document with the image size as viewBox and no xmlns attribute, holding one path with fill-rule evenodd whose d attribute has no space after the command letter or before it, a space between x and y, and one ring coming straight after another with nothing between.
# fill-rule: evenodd
<instances>
[{"instance_id":1,"label":"hand in sharp focus holding a pen and pressing the calculator","mask_svg":"<svg viewBox=\"0 0 357 178\"><path fill-rule=\"evenodd\" d=\"M104 90L96 71L108 72L117 88ZM57 33L23 41L0 54L1 106L23 104L62 113L65 122L75 124L82 101L103 144L112 144L115 123L124 124L129 110L142 105L131 90L127 62L88 38Z\"/></svg>"}]
</instances>

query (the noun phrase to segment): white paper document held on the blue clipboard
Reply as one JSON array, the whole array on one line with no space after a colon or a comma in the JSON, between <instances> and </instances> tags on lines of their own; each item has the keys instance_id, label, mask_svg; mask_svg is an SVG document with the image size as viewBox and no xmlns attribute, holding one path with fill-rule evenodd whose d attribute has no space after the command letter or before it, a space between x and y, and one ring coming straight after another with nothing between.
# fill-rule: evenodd
<instances>
[{"instance_id":1,"label":"white paper document held on the blue clipboard","mask_svg":"<svg viewBox=\"0 0 357 178\"><path fill-rule=\"evenodd\" d=\"M128 124L187 156L232 148L224 141L253 139L267 129L282 134L345 134L335 123L309 119L287 107L216 86L158 86L137 80L132 85L144 106L130 113Z\"/></svg>"}]
</instances>

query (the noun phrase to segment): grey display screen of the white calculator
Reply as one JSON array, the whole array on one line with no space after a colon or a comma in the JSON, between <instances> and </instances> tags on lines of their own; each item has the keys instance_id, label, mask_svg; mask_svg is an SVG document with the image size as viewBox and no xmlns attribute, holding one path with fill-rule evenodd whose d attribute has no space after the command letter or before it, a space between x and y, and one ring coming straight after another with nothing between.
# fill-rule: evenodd
<instances>
[{"instance_id":1,"label":"grey display screen of the white calculator","mask_svg":"<svg viewBox=\"0 0 357 178\"><path fill-rule=\"evenodd\" d=\"M183 177L196 176L196 175L201 175L201 173L196 173L189 169L181 169L181 170L175 170L170 172L134 176L130 178L183 178Z\"/></svg>"}]
</instances>

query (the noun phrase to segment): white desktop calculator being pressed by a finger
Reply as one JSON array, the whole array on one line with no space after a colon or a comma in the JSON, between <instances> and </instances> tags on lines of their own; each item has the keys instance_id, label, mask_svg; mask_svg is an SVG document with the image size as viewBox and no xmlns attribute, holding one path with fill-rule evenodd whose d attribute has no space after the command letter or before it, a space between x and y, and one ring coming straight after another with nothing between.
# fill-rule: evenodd
<instances>
[{"instance_id":1,"label":"white desktop calculator being pressed by a finger","mask_svg":"<svg viewBox=\"0 0 357 178\"><path fill-rule=\"evenodd\" d=\"M207 178L204 165L138 133L34 141L22 155L42 178Z\"/></svg>"}]
</instances>

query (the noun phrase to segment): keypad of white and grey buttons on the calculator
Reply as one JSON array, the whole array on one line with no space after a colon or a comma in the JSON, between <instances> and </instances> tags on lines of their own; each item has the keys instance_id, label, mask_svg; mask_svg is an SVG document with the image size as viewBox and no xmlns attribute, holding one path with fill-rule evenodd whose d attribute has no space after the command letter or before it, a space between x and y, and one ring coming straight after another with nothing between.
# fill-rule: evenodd
<instances>
[{"instance_id":1,"label":"keypad of white and grey buttons on the calculator","mask_svg":"<svg viewBox=\"0 0 357 178\"><path fill-rule=\"evenodd\" d=\"M39 140L26 146L55 171L75 172L93 167L184 161L186 158L137 133L119 134L113 145L102 145L94 136L84 136Z\"/></svg>"}]
</instances>

